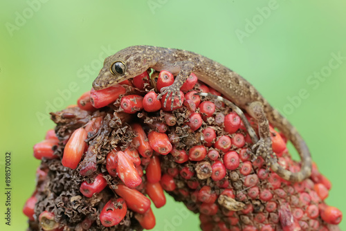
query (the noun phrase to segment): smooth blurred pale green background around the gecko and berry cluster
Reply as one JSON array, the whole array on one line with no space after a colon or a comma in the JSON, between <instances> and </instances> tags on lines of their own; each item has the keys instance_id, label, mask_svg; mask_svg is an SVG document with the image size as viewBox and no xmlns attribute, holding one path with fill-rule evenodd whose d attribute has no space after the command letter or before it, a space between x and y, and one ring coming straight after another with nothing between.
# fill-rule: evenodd
<instances>
[{"instance_id":1,"label":"smooth blurred pale green background around the gecko and berry cluster","mask_svg":"<svg viewBox=\"0 0 346 231\"><path fill-rule=\"evenodd\" d=\"M46 111L75 104L91 89L100 60L138 44L192 50L246 77L302 133L333 183L327 203L346 213L346 59L324 79L309 77L331 70L332 53L346 57L346 3L51 0L30 6L35 2L41 1L0 3L0 230L27 227L21 209L35 189L39 165L32 147L54 126ZM270 12L261 10L272 5ZM10 227L3 219L6 151L12 152ZM168 198L154 210L154 230L198 230L197 216L175 208L183 205ZM340 227L346 229L346 222Z\"/></svg>"}]
</instances>

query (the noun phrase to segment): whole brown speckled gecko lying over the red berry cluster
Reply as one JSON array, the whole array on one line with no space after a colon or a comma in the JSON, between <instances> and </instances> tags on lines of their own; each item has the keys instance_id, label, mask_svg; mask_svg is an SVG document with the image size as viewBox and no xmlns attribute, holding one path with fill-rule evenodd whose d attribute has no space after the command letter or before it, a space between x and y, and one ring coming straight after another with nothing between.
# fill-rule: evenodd
<instances>
[{"instance_id":1,"label":"whole brown speckled gecko lying over the red berry cluster","mask_svg":"<svg viewBox=\"0 0 346 231\"><path fill-rule=\"evenodd\" d=\"M242 76L226 66L197 53L156 46L130 46L104 60L103 68L98 77L93 81L93 89L96 91L105 89L140 75L148 68L153 68L156 71L170 71L173 75L176 75L176 79L171 86L161 89L159 97L167 93L165 102L171 94L172 98L175 95L180 97L179 89L185 80L188 79L190 73L193 72L199 80L222 93L226 98L232 100L237 107L245 109L257 120L260 139L257 138L251 126L246 122L246 128L252 140L255 141L252 151L255 153L255 156L262 156L273 172L292 182L303 181L311 175L311 155L307 144L295 127L276 109L271 107L255 87ZM200 94L203 95L202 93ZM212 97L212 95L208 96ZM221 97L217 99L226 102L228 106L233 106L231 108L239 115L242 115L242 110L237 109L231 102L227 102L227 100ZM179 100L181 99L179 98ZM241 116L241 118L243 122L246 120L244 120L244 116ZM300 172L290 172L277 163L271 149L272 143L268 123L279 129L297 149L302 160ZM274 158L271 158L271 155Z\"/></svg>"}]
</instances>

